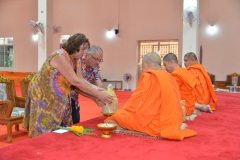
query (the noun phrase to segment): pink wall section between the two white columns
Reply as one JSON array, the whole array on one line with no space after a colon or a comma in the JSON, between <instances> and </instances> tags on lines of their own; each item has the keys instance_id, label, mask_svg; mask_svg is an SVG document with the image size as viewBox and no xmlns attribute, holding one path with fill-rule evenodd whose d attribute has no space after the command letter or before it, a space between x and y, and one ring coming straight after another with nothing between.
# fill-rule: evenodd
<instances>
[{"instance_id":1,"label":"pink wall section between the two white columns","mask_svg":"<svg viewBox=\"0 0 240 160\"><path fill-rule=\"evenodd\" d=\"M62 26L61 34L82 32L92 44L103 48L103 78L122 80L123 74L129 72L133 75L131 88L134 88L137 81L137 41L182 39L182 2L165 2L119 0L118 7L117 0L72 0L71 3L55 0L53 19L54 23ZM71 12L63 12L66 8L71 8ZM117 27L118 21L119 37L106 39L106 30ZM58 36L56 42L57 39Z\"/></svg>"}]
</instances>

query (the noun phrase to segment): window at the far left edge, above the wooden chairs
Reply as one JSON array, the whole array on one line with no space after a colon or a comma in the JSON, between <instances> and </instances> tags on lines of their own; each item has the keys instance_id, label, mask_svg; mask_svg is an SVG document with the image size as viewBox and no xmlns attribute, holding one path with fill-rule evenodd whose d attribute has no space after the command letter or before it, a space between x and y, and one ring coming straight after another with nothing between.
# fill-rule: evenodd
<instances>
[{"instance_id":1,"label":"window at the far left edge, above the wooden chairs","mask_svg":"<svg viewBox=\"0 0 240 160\"><path fill-rule=\"evenodd\" d=\"M0 67L13 67L13 37L0 38Z\"/></svg>"}]
</instances>

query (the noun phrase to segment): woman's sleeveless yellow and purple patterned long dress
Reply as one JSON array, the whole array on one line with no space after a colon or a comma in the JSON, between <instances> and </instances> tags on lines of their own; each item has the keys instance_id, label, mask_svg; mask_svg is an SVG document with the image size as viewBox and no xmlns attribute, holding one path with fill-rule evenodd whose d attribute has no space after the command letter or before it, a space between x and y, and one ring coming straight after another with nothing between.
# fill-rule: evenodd
<instances>
[{"instance_id":1,"label":"woman's sleeveless yellow and purple patterned long dress","mask_svg":"<svg viewBox=\"0 0 240 160\"><path fill-rule=\"evenodd\" d=\"M70 106L70 83L54 67L50 60L56 55L63 55L72 64L69 54L64 49L53 52L43 64L28 86L23 127L29 129L29 136L35 137L56 129L57 125L72 125Z\"/></svg>"}]
</instances>

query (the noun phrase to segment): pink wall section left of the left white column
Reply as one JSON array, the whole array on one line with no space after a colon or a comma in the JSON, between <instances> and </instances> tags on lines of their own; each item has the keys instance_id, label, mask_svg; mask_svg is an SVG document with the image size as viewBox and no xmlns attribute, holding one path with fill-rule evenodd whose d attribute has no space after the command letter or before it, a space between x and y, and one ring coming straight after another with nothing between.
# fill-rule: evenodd
<instances>
[{"instance_id":1,"label":"pink wall section left of the left white column","mask_svg":"<svg viewBox=\"0 0 240 160\"><path fill-rule=\"evenodd\" d=\"M14 38L10 71L37 71L38 44L32 42L30 20L37 20L37 0L0 0L0 37Z\"/></svg>"}]
</instances>

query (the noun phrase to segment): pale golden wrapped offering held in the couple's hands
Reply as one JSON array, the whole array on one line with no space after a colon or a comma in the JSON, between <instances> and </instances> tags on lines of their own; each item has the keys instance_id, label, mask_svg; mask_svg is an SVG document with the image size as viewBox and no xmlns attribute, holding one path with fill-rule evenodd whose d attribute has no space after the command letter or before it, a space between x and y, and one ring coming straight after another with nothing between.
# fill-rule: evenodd
<instances>
[{"instance_id":1,"label":"pale golden wrapped offering held in the couple's hands","mask_svg":"<svg viewBox=\"0 0 240 160\"><path fill-rule=\"evenodd\" d=\"M109 84L107 87L107 91L103 91L108 95L113 97L113 102L111 104L106 104L102 107L102 113L104 116L108 117L113 115L118 109L118 99L116 97L115 91L113 89L112 84Z\"/></svg>"}]
</instances>

